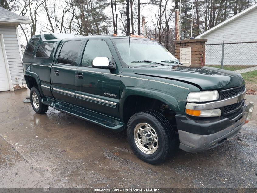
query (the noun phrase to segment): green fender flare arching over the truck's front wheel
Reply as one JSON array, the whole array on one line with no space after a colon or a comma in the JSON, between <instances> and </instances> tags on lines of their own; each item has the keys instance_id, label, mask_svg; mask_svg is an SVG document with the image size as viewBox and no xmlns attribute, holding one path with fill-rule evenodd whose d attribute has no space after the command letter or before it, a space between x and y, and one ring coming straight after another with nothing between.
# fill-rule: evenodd
<instances>
[{"instance_id":1,"label":"green fender flare arching over the truck's front wheel","mask_svg":"<svg viewBox=\"0 0 257 193\"><path fill-rule=\"evenodd\" d=\"M123 117L123 107L124 103L127 99L127 97L131 95L137 95L137 96L143 96L143 97L148 97L148 98L153 98L157 99L165 104L167 104L172 111L180 111L179 103L177 99L171 95L156 91L156 90L151 90L151 89L146 89L146 88L135 88L135 87L129 87L125 88L122 91L121 98L120 98L120 109L119 109L119 114L120 117Z\"/></svg>"}]
</instances>

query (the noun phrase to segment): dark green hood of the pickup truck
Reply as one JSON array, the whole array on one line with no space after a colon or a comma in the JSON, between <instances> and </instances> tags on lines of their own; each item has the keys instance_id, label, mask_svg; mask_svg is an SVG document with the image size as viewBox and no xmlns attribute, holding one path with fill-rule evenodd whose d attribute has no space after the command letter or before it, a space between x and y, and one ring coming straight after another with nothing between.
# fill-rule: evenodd
<instances>
[{"instance_id":1,"label":"dark green hood of the pickup truck","mask_svg":"<svg viewBox=\"0 0 257 193\"><path fill-rule=\"evenodd\" d=\"M135 74L179 80L198 85L202 90L233 88L244 84L240 74L212 67L150 66L133 68L133 71Z\"/></svg>"}]
</instances>

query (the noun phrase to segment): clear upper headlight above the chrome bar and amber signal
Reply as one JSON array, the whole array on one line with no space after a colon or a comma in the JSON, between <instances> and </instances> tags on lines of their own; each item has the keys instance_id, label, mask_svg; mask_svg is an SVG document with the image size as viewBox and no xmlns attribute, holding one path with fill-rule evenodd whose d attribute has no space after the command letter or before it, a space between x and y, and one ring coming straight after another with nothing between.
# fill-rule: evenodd
<instances>
[{"instance_id":1,"label":"clear upper headlight above the chrome bar and amber signal","mask_svg":"<svg viewBox=\"0 0 257 193\"><path fill-rule=\"evenodd\" d=\"M219 99L218 91L190 92L187 95L187 102L205 102Z\"/></svg>"}]
</instances>

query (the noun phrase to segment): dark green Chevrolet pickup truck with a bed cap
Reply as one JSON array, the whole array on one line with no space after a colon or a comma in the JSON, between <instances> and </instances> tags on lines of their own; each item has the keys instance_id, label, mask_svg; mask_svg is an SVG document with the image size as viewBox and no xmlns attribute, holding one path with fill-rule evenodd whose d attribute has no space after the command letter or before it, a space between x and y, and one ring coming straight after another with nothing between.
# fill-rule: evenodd
<instances>
[{"instance_id":1,"label":"dark green Chevrolet pickup truck with a bed cap","mask_svg":"<svg viewBox=\"0 0 257 193\"><path fill-rule=\"evenodd\" d=\"M126 130L133 152L151 164L178 148L200 152L224 143L254 108L245 103L240 74L184 67L159 43L144 38L35 35L23 69L36 113L50 106Z\"/></svg>"}]
</instances>

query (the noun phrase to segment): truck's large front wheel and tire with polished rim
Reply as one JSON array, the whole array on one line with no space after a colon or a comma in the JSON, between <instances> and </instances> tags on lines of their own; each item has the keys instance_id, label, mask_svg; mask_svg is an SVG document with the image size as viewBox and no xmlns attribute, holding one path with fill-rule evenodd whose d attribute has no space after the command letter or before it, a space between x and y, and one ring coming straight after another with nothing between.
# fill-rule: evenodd
<instances>
[{"instance_id":1,"label":"truck's large front wheel and tire with polished rim","mask_svg":"<svg viewBox=\"0 0 257 193\"><path fill-rule=\"evenodd\" d=\"M130 117L127 138L135 155L150 164L160 164L177 151L177 140L170 123L153 110L141 111Z\"/></svg>"}]
</instances>

